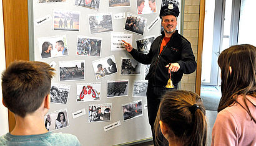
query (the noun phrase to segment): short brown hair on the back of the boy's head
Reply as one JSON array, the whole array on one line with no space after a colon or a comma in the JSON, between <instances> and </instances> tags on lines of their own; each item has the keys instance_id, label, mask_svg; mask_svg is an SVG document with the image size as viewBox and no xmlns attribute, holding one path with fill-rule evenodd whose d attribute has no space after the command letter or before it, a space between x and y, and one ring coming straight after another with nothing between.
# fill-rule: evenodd
<instances>
[{"instance_id":1,"label":"short brown hair on the back of the boy's head","mask_svg":"<svg viewBox=\"0 0 256 146\"><path fill-rule=\"evenodd\" d=\"M36 111L50 93L54 68L44 62L12 62L2 73L2 99L21 117Z\"/></svg>"}]
</instances>

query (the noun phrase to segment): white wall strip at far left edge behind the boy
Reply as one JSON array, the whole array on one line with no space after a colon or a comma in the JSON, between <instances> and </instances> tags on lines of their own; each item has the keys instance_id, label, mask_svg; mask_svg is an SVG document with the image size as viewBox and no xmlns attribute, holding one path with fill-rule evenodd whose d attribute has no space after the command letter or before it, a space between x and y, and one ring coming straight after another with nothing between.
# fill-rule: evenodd
<instances>
[{"instance_id":1,"label":"white wall strip at far left edge behind the boy","mask_svg":"<svg viewBox=\"0 0 256 146\"><path fill-rule=\"evenodd\" d=\"M0 1L0 73L6 68L6 57L4 50L4 22L2 17L2 1ZM0 84L0 135L8 132L8 112L2 105L2 86Z\"/></svg>"}]
</instances>

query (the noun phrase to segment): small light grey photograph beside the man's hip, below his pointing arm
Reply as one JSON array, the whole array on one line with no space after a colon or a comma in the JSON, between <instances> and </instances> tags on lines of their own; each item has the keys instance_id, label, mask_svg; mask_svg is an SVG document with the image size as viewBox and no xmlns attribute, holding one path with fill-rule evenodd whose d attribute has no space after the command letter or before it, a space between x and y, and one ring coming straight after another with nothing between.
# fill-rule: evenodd
<instances>
[{"instance_id":1,"label":"small light grey photograph beside the man's hip, below his pointing arm","mask_svg":"<svg viewBox=\"0 0 256 146\"><path fill-rule=\"evenodd\" d=\"M135 80L134 89L132 91L132 97L146 97L147 81Z\"/></svg>"}]
</instances>

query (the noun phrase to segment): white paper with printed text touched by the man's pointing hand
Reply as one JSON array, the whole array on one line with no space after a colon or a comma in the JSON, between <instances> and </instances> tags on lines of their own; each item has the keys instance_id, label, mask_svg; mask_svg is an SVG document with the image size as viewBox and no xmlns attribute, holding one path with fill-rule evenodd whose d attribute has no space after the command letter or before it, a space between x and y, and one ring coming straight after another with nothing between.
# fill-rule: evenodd
<instances>
[{"instance_id":1,"label":"white paper with printed text touched by the man's pointing hand","mask_svg":"<svg viewBox=\"0 0 256 146\"><path fill-rule=\"evenodd\" d=\"M111 51L125 50L124 42L132 45L132 34L124 34L123 32L112 32L111 33Z\"/></svg>"}]
</instances>

